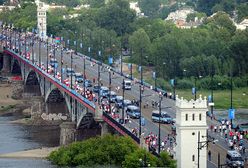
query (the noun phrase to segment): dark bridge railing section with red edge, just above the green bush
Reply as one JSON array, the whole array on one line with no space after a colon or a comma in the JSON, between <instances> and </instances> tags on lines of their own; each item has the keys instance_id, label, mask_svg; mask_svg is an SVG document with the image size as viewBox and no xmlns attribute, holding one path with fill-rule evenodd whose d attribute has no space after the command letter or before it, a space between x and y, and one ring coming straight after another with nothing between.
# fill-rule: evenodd
<instances>
[{"instance_id":1,"label":"dark bridge railing section with red edge, just above the green bush","mask_svg":"<svg viewBox=\"0 0 248 168\"><path fill-rule=\"evenodd\" d=\"M125 135L130 136L134 141L136 141L138 144L140 143L140 139L135 136L130 130L128 130L126 127L121 125L118 121L113 119L111 116L109 116L106 112L103 112L103 116L106 117L110 122L112 122L115 126L117 126L119 129L121 129ZM110 124L110 123L108 123Z\"/></svg>"}]
</instances>

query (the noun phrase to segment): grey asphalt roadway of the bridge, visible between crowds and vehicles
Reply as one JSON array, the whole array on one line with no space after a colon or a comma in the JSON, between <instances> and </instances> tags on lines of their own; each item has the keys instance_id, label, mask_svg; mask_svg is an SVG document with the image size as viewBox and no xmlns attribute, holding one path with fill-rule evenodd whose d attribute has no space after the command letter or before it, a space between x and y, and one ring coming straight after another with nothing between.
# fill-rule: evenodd
<instances>
[{"instance_id":1,"label":"grey asphalt roadway of the bridge, visible between crowds and vehicles","mask_svg":"<svg viewBox=\"0 0 248 168\"><path fill-rule=\"evenodd\" d=\"M38 42L36 42L34 45L34 51L36 52L36 60L38 59L38 54L37 54L38 50L39 50ZM47 55L46 46L43 44L43 45L41 45L41 59L42 59L42 62L45 64L46 64L46 55ZM60 63L60 61L61 61L60 50L56 51L55 55L56 55L56 59ZM73 54L73 68L77 72L83 72L83 57L84 57L84 55L82 55L82 54L78 54L78 55ZM87 58L89 58L89 57L87 57ZM64 61L63 68L65 68L66 63L68 65L68 67L70 67L70 54L66 54L65 52L63 52L63 61ZM92 61L95 61L95 60L92 59ZM75 65L76 65L76 67L75 67ZM97 79L97 72L98 72L97 68L98 67L97 67L97 65L95 65L95 66L90 66L90 65L91 65L91 61L89 59L86 59L87 78L89 78L91 80L92 80L92 78ZM107 65L105 65L105 66L107 66ZM60 69L60 65L59 65L58 69ZM123 78L124 77L121 76L119 73L115 73L114 77L112 78L113 79L112 80L112 90L116 86L122 86ZM108 71L101 71L101 79L102 79L103 84L108 87L108 81L109 81ZM120 93L122 93L122 92L120 91ZM131 91L125 91L125 97L127 97L129 99L134 98L136 100L139 100L139 84L133 83L132 90ZM145 135L147 135L149 132L153 132L155 134L158 134L158 124L153 123L151 121L151 110L152 110L151 101L152 100L157 101L157 102L159 101L158 93L155 92L154 90L146 88L145 92L143 94L143 103L148 102L149 108L148 109L142 109L142 115L144 118L146 118L146 125L145 125L145 128L143 129ZM172 107L172 108L166 109L166 111L172 117L175 118L175 103L174 103L174 101L164 97L162 100L162 108L166 108L166 107ZM207 122L208 122L208 125L219 124L215 120L210 120L210 118L208 118ZM132 123L129 124L128 126L130 126L131 128L133 128L133 127L138 128L139 122L137 120L132 120ZM161 138L163 139L163 137L165 135L167 135L168 133L170 133L170 126L162 125L161 126L161 134L162 134ZM226 150L228 150L228 146L227 146L227 143L225 142L224 138L222 136L220 136L218 134L214 134L214 133L210 133L210 135L219 140L216 144L219 147L217 152L224 155L226 153ZM247 144L246 144L246 146L247 146ZM212 150L217 150L217 149L212 149ZM222 164L223 164L223 162L224 162L224 160L222 161ZM217 163L215 163L215 165L216 164Z\"/></svg>"}]
</instances>

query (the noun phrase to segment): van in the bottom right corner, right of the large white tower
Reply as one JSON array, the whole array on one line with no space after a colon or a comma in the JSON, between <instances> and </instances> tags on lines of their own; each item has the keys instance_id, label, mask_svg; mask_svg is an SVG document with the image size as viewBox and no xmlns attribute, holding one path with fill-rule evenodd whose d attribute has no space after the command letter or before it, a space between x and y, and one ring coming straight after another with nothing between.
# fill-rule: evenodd
<instances>
[{"instance_id":1,"label":"van in the bottom right corner, right of the large white tower","mask_svg":"<svg viewBox=\"0 0 248 168\"><path fill-rule=\"evenodd\" d=\"M229 150L226 154L226 165L229 167L244 167L244 160L241 154L235 150Z\"/></svg>"}]
</instances>

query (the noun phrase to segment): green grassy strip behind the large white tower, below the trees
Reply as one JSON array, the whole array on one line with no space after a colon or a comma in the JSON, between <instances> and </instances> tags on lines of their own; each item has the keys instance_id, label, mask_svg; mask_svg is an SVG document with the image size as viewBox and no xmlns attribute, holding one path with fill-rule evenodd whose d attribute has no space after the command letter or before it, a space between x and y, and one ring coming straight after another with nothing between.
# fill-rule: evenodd
<instances>
[{"instance_id":1,"label":"green grassy strip behind the large white tower, below the trees","mask_svg":"<svg viewBox=\"0 0 248 168\"><path fill-rule=\"evenodd\" d=\"M246 93L246 94L243 94ZM233 107L238 108L248 108L248 87L237 88L233 90ZM186 99L193 99L194 96L191 94L191 90L176 90L176 94L179 97L184 97ZM201 94L203 97L211 94L210 90L199 90L197 95ZM231 92L230 90L217 90L214 91L214 103L217 109L228 109L231 104Z\"/></svg>"}]
</instances>

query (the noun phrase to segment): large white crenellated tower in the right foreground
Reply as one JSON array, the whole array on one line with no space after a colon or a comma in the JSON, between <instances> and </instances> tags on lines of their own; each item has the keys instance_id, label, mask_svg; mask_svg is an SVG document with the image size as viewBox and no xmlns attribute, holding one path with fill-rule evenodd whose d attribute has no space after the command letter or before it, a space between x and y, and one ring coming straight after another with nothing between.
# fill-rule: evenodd
<instances>
[{"instance_id":1,"label":"large white crenellated tower in the right foreground","mask_svg":"<svg viewBox=\"0 0 248 168\"><path fill-rule=\"evenodd\" d=\"M199 167L206 168L207 151L203 145L207 140L207 100L201 96L196 101L177 97L176 108L177 167L197 168L199 159Z\"/></svg>"}]
</instances>

